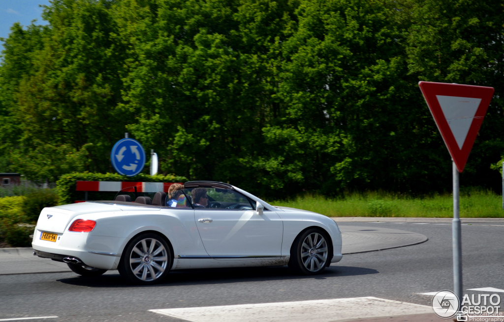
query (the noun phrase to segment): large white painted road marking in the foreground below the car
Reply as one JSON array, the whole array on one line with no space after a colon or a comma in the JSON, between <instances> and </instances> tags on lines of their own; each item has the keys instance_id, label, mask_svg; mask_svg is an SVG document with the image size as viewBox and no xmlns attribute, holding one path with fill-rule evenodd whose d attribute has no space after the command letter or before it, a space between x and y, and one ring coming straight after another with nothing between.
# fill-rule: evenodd
<instances>
[{"instance_id":1,"label":"large white painted road marking in the foreground below the car","mask_svg":"<svg viewBox=\"0 0 504 322\"><path fill-rule=\"evenodd\" d=\"M150 310L192 322L330 322L353 318L432 313L430 306L376 297L356 297L299 302L185 307Z\"/></svg>"}]
</instances>

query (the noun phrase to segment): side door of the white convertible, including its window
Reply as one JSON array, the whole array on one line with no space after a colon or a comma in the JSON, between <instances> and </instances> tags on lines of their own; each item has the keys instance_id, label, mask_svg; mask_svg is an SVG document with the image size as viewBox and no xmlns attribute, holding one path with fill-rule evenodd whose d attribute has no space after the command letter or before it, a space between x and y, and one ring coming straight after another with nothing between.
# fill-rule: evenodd
<instances>
[{"instance_id":1,"label":"side door of the white convertible, including its window","mask_svg":"<svg viewBox=\"0 0 504 322\"><path fill-rule=\"evenodd\" d=\"M258 214L245 196L231 189L204 189L209 197L208 208L198 207L199 200L192 199L196 225L210 256L225 259L281 255L283 223L275 211L265 209Z\"/></svg>"}]
</instances>

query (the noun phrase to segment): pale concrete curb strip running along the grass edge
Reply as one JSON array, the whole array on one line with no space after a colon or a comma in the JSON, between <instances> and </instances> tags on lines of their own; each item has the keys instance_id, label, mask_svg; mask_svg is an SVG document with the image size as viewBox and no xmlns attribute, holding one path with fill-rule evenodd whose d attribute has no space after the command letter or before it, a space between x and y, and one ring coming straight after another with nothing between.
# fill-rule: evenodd
<instances>
[{"instance_id":1,"label":"pale concrete curb strip running along the grass edge","mask_svg":"<svg viewBox=\"0 0 504 322\"><path fill-rule=\"evenodd\" d=\"M446 223L450 224L453 218L418 218L418 217L329 217L335 222L361 222L361 223ZM461 223L499 223L504 224L504 218L461 218Z\"/></svg>"}]
</instances>

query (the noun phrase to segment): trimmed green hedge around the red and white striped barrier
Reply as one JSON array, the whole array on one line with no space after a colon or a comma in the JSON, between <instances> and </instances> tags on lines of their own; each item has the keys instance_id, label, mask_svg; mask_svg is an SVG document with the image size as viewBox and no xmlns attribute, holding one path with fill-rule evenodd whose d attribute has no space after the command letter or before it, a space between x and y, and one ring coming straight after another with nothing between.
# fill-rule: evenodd
<instances>
[{"instance_id":1,"label":"trimmed green hedge around the red and white striped barrier","mask_svg":"<svg viewBox=\"0 0 504 322\"><path fill-rule=\"evenodd\" d=\"M84 200L84 191L76 191L77 181L133 181L133 182L185 182L187 178L175 175L155 175L149 176L138 174L134 177L121 176L119 174L107 173L70 173L62 175L56 181L56 189L59 196L59 204L73 203L76 200ZM111 200L115 192L88 192L88 200Z\"/></svg>"}]
</instances>

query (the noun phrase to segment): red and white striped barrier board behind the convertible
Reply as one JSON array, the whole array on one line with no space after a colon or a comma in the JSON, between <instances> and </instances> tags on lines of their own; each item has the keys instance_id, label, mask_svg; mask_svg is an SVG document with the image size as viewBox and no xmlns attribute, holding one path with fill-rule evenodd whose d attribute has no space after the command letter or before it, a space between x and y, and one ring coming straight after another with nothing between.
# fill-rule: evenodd
<instances>
[{"instance_id":1,"label":"red and white striped barrier board behind the convertible","mask_svg":"<svg viewBox=\"0 0 504 322\"><path fill-rule=\"evenodd\" d=\"M127 191L134 192L137 187L137 192L168 192L168 188L174 184L181 182L122 182L122 181L77 181L76 191ZM127 189L131 188L131 189Z\"/></svg>"}]
</instances>

